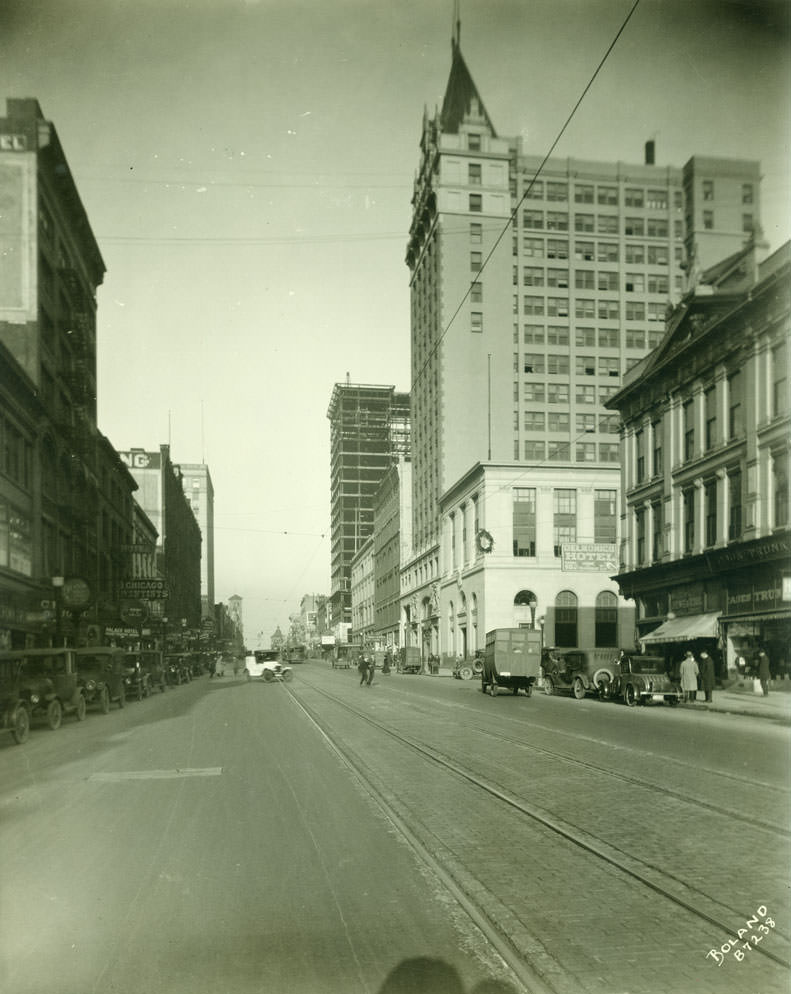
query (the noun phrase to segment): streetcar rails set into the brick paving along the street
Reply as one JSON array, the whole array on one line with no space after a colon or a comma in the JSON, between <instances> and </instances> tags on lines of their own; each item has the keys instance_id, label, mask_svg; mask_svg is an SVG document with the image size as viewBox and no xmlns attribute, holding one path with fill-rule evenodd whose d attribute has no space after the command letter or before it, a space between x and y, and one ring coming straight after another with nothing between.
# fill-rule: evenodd
<instances>
[{"instance_id":1,"label":"streetcar rails set into the brick paving along the street","mask_svg":"<svg viewBox=\"0 0 791 994\"><path fill-rule=\"evenodd\" d=\"M610 842L606 841L601 837L597 837L594 833L587 832L578 826L567 822L563 818L547 811L546 809L540 807L536 804L531 804L526 798L519 796L513 790L509 790L507 786L496 782L490 776L484 776L480 773L476 773L469 767L466 767L447 754L443 753L442 750L428 744L426 741L421 741L415 736L405 733L404 731L398 730L392 724L387 724L385 721L374 717L372 714L361 710L358 707L353 706L348 702L348 700L340 698L328 691L315 686L314 684L306 684L311 691L319 694L321 698L334 706L342 709L347 715L351 715L354 719L363 722L368 728L374 730L376 733L386 736L393 742L398 743L398 745L407 750L413 756L417 756L421 761L430 764L433 767L439 767L452 776L459 782L466 783L471 788L478 792L482 792L488 798L496 801L500 809L507 808L512 813L515 813L524 822L530 823L533 826L540 826L541 830L549 833L556 840L561 841L562 844L572 846L578 852L581 852L586 858L591 857L600 866L606 866L608 872L615 872L621 879L627 879L633 884L638 885L652 895L658 896L667 902L669 907L671 907L674 912L683 912L692 923L696 923L694 927L699 927L701 924L711 930L714 934L721 937L721 941L726 941L729 939L740 920L745 918L745 910L743 908L736 908L728 903L724 903L715 897L703 893L701 890L696 889L694 886L687 884L686 882L680 880L677 876L669 873L666 869L652 865L641 859L639 856L634 856L624 851L623 849L618 849L613 846ZM294 687L289 688L292 698L295 703L303 710L303 712L308 715L310 720L321 730L322 735L325 739L332 744L332 747L344 757L344 761L355 770L358 776L362 777L363 780L373 788L372 778L370 776L370 771L366 769L366 765L361 761L360 757L355 754L354 749L351 749L347 743L341 742L337 735L332 732L330 723L326 721L325 718L319 713L315 707L311 707L307 704L300 695L295 693ZM471 730L471 729L468 729ZM475 726L474 731L477 734L482 734L488 736L489 738L494 737L494 733L491 729L487 729L482 726ZM503 737L501 733L498 732L497 737L500 741L508 741L511 744L516 744L521 748L530 748L535 751L533 746L525 746L524 742L518 742L511 736ZM569 757L563 753L553 752L552 750L543 749L542 752L547 756L551 757L553 760L561 761L567 764L571 764L575 767L581 768L583 770L592 770L596 774L613 776L613 771L604 769L597 766L596 764L586 763L577 759L576 757ZM627 784L628 786L639 786L644 789L652 789L651 785L646 785L644 782L638 781L634 777L615 775L615 778ZM410 820L410 813L407 812L406 816L400 814L397 810L397 805L393 804L393 797L390 796L390 792L385 789L384 791L380 789L373 788L377 795L380 803L383 803L388 813L394 816L394 823L399 827L402 832L408 833L412 838L412 842L415 848L422 848L424 851L421 853L424 858L425 846L420 847L415 843L414 832L408 828L408 821ZM697 805L697 799L690 798L683 792L673 791L670 788L660 788L655 785L654 788L657 793L668 793L672 795L676 800L681 803ZM721 818L732 818L734 812L728 808L724 808L717 805L703 805L707 808L712 816L717 816ZM752 827L765 828L762 823L751 819L749 817L744 817L742 819L744 822L749 823ZM776 829L777 826L770 826L769 830L772 831ZM783 836L787 835L784 830L780 830L778 834ZM432 863L436 863L436 858L432 858ZM447 875L447 870L443 869L443 875ZM451 871L452 872L452 871ZM465 874L462 872L461 877L464 879ZM469 886L469 881L467 881ZM458 888L458 883L456 887ZM462 885L464 888L464 885ZM473 885L474 892L478 895L478 900L480 899L480 887L481 882L477 881ZM469 902L469 893L466 896ZM477 901L474 903L478 903ZM491 903L487 898L487 901L483 902ZM468 909L469 910L469 909ZM479 912L484 914L484 919L490 922L490 931L493 928L496 937L502 942L502 935L499 927L491 925L491 916L487 913ZM475 916L474 916L475 917ZM476 917L475 920L478 920ZM734 924L736 923L736 924ZM524 937L523 937L524 938ZM777 951L778 942L774 941L774 948L758 946L756 951L759 951L762 956L773 962L774 964L784 967L786 969L791 968L791 957L788 951L788 936L782 934L778 929L774 935L774 940L779 940L782 949ZM497 942L494 943L496 948L499 948ZM531 943L528 943L530 945ZM540 940L532 941L532 952L530 957L533 958L536 955L536 944L540 946ZM525 969L524 963L524 948L523 944L519 949L516 950L517 958L513 961L513 955L509 958L507 955L508 950L513 947L508 944L506 947L506 955L504 958L512 969L515 969L517 975L519 970ZM502 951L501 951L502 954ZM538 956L539 961L544 959L541 955ZM537 983L544 984L546 982L546 973L550 971L539 972L536 974L535 970L532 968L528 969L528 975L524 977L523 982L526 983L529 989L536 989ZM532 987L530 985L533 985Z\"/></svg>"}]
</instances>

